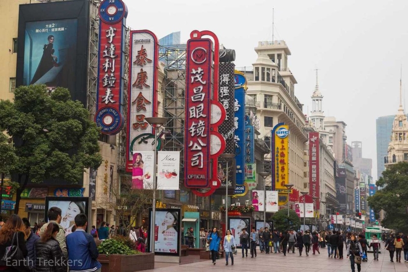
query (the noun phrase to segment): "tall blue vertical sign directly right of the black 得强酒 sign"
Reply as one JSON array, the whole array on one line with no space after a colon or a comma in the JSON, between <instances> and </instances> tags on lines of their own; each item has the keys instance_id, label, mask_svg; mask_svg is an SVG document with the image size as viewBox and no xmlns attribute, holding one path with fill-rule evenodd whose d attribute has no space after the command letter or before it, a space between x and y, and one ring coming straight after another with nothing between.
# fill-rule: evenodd
<instances>
[{"instance_id":1,"label":"tall blue vertical sign directly right of the black \u5f97\u5f3a\u9152 sign","mask_svg":"<svg viewBox=\"0 0 408 272\"><path fill-rule=\"evenodd\" d=\"M245 181L245 89L246 78L243 73L235 71L234 75L234 139L235 139L235 163L236 185L243 185Z\"/></svg>"}]
</instances>

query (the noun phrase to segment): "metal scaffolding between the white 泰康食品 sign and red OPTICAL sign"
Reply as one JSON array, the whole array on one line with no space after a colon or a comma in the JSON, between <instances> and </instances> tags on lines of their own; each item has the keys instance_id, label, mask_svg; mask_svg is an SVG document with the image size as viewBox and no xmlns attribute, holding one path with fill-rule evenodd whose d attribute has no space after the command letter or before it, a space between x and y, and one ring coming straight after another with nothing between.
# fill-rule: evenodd
<instances>
[{"instance_id":1,"label":"metal scaffolding between the white \u6cf0\u5eb7\u98df\u54c1 sign and red OPTICAL sign","mask_svg":"<svg viewBox=\"0 0 408 272\"><path fill-rule=\"evenodd\" d=\"M184 103L186 45L160 46L159 60L165 64L163 117L170 134L166 135L163 150L181 151L181 171L184 169Z\"/></svg>"}]
</instances>

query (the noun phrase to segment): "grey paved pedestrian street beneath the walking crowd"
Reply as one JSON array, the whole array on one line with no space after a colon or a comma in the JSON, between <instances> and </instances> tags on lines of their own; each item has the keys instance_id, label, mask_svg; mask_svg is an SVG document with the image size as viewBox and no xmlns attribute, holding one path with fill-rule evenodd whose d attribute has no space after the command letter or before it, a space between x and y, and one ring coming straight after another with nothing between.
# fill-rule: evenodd
<instances>
[{"instance_id":1,"label":"grey paved pedestrian street beneath the walking crowd","mask_svg":"<svg viewBox=\"0 0 408 272\"><path fill-rule=\"evenodd\" d=\"M156 269L148 272L201 272L201 271L251 271L251 272L351 272L350 260L346 259L346 250L344 250L344 259L332 259L327 257L327 249L320 249L320 255L305 256L305 249L300 257L299 253L288 253L286 256L280 254L258 253L257 258L242 258L240 249L238 255L234 255L234 265L225 265L225 259L217 260L214 266L211 261L197 262L191 264L181 264L166 266L165 264L156 264ZM403 257L404 259L404 257ZM394 257L395 262L395 257ZM166 267L164 267L166 266ZM356 265L357 272L357 265ZM368 253L368 262L362 264L362 272L408 272L408 263L391 263L388 251L379 255L379 261L373 261L372 253Z\"/></svg>"}]
</instances>

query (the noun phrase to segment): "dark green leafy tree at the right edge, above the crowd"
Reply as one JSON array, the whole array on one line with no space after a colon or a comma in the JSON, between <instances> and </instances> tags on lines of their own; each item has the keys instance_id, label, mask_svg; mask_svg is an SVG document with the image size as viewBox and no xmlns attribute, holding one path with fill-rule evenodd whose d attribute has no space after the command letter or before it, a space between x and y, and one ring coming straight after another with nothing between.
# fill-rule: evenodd
<instances>
[{"instance_id":1,"label":"dark green leafy tree at the right edge, above the crowd","mask_svg":"<svg viewBox=\"0 0 408 272\"><path fill-rule=\"evenodd\" d=\"M368 205L376 217L384 210L381 225L402 232L408 231L408 163L400 162L389 166L376 182L381 189L367 198Z\"/></svg>"}]
</instances>

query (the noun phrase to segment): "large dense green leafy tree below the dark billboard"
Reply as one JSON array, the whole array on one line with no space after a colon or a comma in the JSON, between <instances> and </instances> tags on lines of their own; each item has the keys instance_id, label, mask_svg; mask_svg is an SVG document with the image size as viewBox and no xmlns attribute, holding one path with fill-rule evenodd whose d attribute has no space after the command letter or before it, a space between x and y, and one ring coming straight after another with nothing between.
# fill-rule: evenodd
<instances>
[{"instance_id":1,"label":"large dense green leafy tree below the dark billboard","mask_svg":"<svg viewBox=\"0 0 408 272\"><path fill-rule=\"evenodd\" d=\"M50 94L45 85L17 88L14 103L0 101L0 130L13 138L17 156L10 171L18 184L16 213L28 181L76 184L87 168L98 168L102 162L99 129L65 88Z\"/></svg>"}]
</instances>

